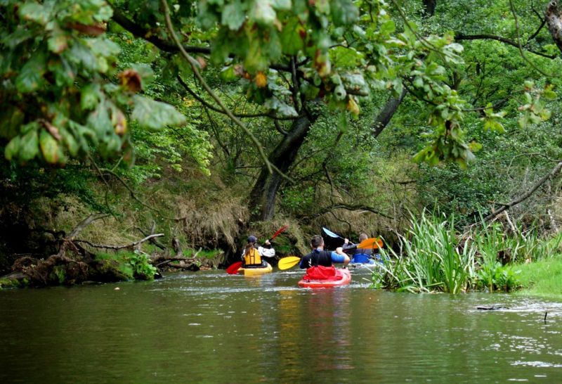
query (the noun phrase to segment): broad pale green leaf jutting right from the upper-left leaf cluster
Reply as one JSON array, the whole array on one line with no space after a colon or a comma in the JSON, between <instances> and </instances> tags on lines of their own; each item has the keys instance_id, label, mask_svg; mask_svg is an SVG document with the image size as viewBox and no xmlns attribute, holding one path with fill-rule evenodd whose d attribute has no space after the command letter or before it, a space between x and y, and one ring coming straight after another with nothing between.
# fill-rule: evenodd
<instances>
[{"instance_id":1,"label":"broad pale green leaf jutting right from the upper-left leaf cluster","mask_svg":"<svg viewBox=\"0 0 562 384\"><path fill-rule=\"evenodd\" d=\"M135 108L131 113L131 119L136 120L141 127L160 129L166 125L185 123L185 116L169 104L140 95L134 96L133 101Z\"/></svg>"}]
</instances>

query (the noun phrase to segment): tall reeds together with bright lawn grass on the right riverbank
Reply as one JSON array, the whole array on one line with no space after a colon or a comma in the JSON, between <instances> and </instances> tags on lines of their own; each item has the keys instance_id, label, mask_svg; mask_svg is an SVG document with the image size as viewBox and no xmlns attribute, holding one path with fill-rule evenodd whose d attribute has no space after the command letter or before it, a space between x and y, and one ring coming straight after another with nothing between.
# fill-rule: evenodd
<instances>
[{"instance_id":1,"label":"tall reeds together with bright lawn grass on the right riverbank","mask_svg":"<svg viewBox=\"0 0 562 384\"><path fill-rule=\"evenodd\" d=\"M562 233L539 238L534 229L500 222L455 230L453 218L422 215L399 236L399 252L383 249L373 286L412 293L471 291L562 295ZM396 248L396 247L395 247Z\"/></svg>"}]
</instances>

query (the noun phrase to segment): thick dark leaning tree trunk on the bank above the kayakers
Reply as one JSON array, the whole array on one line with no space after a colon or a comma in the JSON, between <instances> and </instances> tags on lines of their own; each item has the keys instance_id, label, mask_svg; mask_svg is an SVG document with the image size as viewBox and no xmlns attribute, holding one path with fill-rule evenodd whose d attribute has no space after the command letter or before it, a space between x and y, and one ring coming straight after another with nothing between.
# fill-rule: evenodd
<instances>
[{"instance_id":1,"label":"thick dark leaning tree trunk on the bank above the kayakers","mask_svg":"<svg viewBox=\"0 0 562 384\"><path fill-rule=\"evenodd\" d=\"M316 117L302 116L294 120L291 130L269 155L269 161L284 174L296 160L308 131ZM275 196L283 177L278 172L269 173L262 167L259 177L250 193L250 212L252 220L267 220L275 213Z\"/></svg>"}]
</instances>

